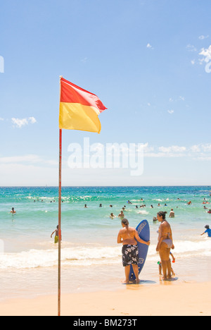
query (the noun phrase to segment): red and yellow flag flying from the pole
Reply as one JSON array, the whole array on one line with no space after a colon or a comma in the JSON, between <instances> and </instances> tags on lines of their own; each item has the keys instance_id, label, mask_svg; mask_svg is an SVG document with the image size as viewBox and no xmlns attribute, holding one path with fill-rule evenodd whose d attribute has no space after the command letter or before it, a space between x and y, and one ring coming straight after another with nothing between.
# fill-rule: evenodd
<instances>
[{"instance_id":1,"label":"red and yellow flag flying from the pole","mask_svg":"<svg viewBox=\"0 0 211 330\"><path fill-rule=\"evenodd\" d=\"M83 90L72 82L60 79L59 128L101 133L98 115L106 110L95 94Z\"/></svg>"}]
</instances>

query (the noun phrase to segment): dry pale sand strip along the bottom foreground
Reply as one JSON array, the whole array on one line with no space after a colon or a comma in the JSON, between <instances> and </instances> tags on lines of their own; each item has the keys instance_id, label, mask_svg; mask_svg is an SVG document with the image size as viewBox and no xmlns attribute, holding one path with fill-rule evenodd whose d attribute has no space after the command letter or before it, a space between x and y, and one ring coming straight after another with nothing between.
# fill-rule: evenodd
<instances>
[{"instance_id":1,"label":"dry pale sand strip along the bottom foreground","mask_svg":"<svg viewBox=\"0 0 211 330\"><path fill-rule=\"evenodd\" d=\"M121 291L62 295L62 316L211 316L211 282L129 285ZM56 316L57 297L13 299L1 316Z\"/></svg>"}]
</instances>

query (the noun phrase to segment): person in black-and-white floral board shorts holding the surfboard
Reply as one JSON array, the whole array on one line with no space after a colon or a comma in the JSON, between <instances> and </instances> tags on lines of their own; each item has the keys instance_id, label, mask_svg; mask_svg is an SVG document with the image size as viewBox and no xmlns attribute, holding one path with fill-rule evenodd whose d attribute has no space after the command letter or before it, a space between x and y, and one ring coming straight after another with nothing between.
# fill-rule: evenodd
<instances>
[{"instance_id":1,"label":"person in black-and-white floral board shorts holding the surfboard","mask_svg":"<svg viewBox=\"0 0 211 330\"><path fill-rule=\"evenodd\" d=\"M122 244L122 264L125 271L124 283L129 284L129 273L132 265L136 276L136 284L139 284L139 247L137 241L146 245L150 245L150 241L145 242L139 238L135 228L129 227L129 221L122 219L122 229L120 230L117 243Z\"/></svg>"}]
</instances>

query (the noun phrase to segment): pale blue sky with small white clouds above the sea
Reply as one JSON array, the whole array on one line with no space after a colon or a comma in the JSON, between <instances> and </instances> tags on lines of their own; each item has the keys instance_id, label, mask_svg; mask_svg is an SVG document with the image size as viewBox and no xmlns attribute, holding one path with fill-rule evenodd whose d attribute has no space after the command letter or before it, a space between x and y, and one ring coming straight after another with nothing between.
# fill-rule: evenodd
<instances>
[{"instance_id":1,"label":"pale blue sky with small white clouds above the sea","mask_svg":"<svg viewBox=\"0 0 211 330\"><path fill-rule=\"evenodd\" d=\"M0 4L0 186L58 185L60 75L108 108L100 135L63 130L63 185L211 185L209 0ZM142 145L143 171L106 166L108 144Z\"/></svg>"}]
</instances>

